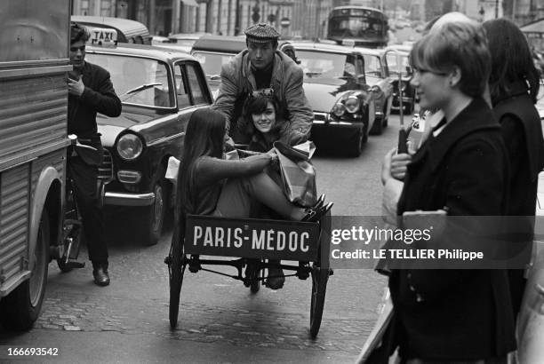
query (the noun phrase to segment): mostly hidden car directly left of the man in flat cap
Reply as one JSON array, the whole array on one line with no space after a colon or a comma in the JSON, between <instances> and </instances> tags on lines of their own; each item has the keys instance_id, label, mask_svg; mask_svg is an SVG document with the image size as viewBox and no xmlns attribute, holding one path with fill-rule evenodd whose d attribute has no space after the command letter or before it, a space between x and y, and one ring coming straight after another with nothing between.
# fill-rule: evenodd
<instances>
[{"instance_id":1,"label":"mostly hidden car directly left of the man in flat cap","mask_svg":"<svg viewBox=\"0 0 544 364\"><path fill-rule=\"evenodd\" d=\"M221 67L247 48L245 36L201 36L191 49L198 59L214 97L219 92Z\"/></svg>"}]
</instances>

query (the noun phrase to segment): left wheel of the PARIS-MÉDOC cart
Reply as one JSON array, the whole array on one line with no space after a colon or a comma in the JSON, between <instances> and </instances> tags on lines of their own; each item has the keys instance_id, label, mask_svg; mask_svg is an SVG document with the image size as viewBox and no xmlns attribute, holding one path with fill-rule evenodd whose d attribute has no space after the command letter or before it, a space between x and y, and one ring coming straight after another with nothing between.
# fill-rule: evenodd
<instances>
[{"instance_id":1,"label":"left wheel of the PARIS-M\u00c9DOC cart","mask_svg":"<svg viewBox=\"0 0 544 364\"><path fill-rule=\"evenodd\" d=\"M178 313L180 312L180 292L183 284L183 273L187 266L187 257L183 253L183 245L180 241L173 241L170 250L170 264L168 276L170 279L170 327L178 326Z\"/></svg>"}]
</instances>

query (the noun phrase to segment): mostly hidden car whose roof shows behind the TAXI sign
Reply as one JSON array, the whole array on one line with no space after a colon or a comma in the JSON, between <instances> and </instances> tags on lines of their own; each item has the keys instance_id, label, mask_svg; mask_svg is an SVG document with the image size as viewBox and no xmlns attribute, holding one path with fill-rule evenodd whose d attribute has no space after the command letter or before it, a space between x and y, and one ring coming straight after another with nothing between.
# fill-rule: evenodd
<instances>
[{"instance_id":1,"label":"mostly hidden car whose roof shows behind the TAXI sign","mask_svg":"<svg viewBox=\"0 0 544 364\"><path fill-rule=\"evenodd\" d=\"M140 21L88 15L72 15L71 20L86 27L116 29L119 43L151 44L149 30Z\"/></svg>"}]
</instances>

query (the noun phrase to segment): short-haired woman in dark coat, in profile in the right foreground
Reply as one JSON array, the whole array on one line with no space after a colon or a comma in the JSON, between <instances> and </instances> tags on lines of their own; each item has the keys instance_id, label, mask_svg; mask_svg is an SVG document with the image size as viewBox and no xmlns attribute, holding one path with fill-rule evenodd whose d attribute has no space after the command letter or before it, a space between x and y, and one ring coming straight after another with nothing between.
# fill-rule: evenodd
<instances>
[{"instance_id":1,"label":"short-haired woman in dark coat, in profile in the right foreground","mask_svg":"<svg viewBox=\"0 0 544 364\"><path fill-rule=\"evenodd\" d=\"M491 70L483 28L445 24L414 44L410 58L420 106L444 118L408 164L397 213L504 214L508 155L482 98ZM506 363L516 349L506 270L399 269L388 286L390 347L407 363Z\"/></svg>"}]
</instances>

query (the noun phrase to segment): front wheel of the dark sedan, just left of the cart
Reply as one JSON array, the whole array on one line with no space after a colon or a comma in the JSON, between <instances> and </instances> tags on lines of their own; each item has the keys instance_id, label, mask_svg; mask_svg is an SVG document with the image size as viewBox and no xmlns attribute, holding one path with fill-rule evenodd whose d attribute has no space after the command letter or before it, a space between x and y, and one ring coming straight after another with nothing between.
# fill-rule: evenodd
<instances>
[{"instance_id":1,"label":"front wheel of the dark sedan, just left of the cart","mask_svg":"<svg viewBox=\"0 0 544 364\"><path fill-rule=\"evenodd\" d=\"M155 182L153 186L155 202L141 208L142 211L136 217L139 220L135 225L137 226L136 239L143 245L155 245L161 238L168 201L165 185L164 179Z\"/></svg>"}]
</instances>

